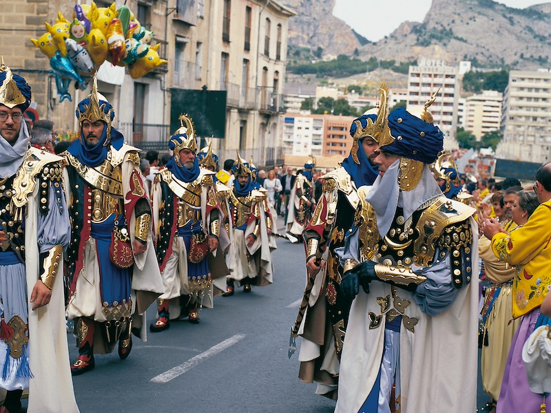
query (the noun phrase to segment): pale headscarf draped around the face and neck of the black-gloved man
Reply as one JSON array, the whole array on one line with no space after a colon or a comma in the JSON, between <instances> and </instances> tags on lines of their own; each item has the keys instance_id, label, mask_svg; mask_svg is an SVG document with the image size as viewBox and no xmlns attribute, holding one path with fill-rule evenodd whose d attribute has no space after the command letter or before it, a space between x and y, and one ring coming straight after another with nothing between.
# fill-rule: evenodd
<instances>
[{"instance_id":1,"label":"pale headscarf draped around the face and neck of the black-gloved man","mask_svg":"<svg viewBox=\"0 0 551 413\"><path fill-rule=\"evenodd\" d=\"M411 191L399 190L398 174L399 159L388 168L383 176L377 176L366 196L366 201L375 209L377 228L381 237L384 237L391 229L397 207L404 209L404 219L408 220L425 202L442 195L428 165L424 165L423 176L417 187Z\"/></svg>"}]
</instances>

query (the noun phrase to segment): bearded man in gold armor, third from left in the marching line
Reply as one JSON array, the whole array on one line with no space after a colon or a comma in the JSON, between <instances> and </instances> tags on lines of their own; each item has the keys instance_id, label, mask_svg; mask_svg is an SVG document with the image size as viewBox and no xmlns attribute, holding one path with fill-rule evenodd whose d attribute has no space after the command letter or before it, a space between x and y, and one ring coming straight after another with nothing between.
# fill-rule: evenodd
<instances>
[{"instance_id":1,"label":"bearded man in gold armor, third from left in the marching line","mask_svg":"<svg viewBox=\"0 0 551 413\"><path fill-rule=\"evenodd\" d=\"M199 167L196 134L187 115L180 115L169 149L173 156L156 174L152 191L157 259L165 286L152 332L169 328L180 309L190 323L198 324L198 306L212 307L207 255L216 251L220 237L215 172Z\"/></svg>"}]
</instances>

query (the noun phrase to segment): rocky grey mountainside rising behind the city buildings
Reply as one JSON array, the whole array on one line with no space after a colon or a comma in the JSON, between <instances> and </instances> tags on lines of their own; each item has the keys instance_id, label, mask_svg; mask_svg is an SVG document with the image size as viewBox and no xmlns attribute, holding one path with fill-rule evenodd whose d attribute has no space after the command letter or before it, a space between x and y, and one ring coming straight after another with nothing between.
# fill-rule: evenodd
<instances>
[{"instance_id":1,"label":"rocky grey mountainside rising behind the city buildings","mask_svg":"<svg viewBox=\"0 0 551 413\"><path fill-rule=\"evenodd\" d=\"M551 3L526 9L492 0L433 0L422 23L406 21L387 38L364 46L346 23L331 14L335 0L283 0L298 11L289 24L289 44L350 54L361 59L461 60L486 66L550 67Z\"/></svg>"}]
</instances>

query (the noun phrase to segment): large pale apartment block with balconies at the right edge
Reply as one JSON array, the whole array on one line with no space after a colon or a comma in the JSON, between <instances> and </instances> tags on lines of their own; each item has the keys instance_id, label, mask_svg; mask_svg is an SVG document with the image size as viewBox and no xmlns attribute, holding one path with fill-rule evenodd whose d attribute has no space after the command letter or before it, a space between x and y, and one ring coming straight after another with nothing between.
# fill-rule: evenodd
<instances>
[{"instance_id":1,"label":"large pale apartment block with balconies at the right edge","mask_svg":"<svg viewBox=\"0 0 551 413\"><path fill-rule=\"evenodd\" d=\"M551 160L551 72L509 73L501 134L497 158L537 163Z\"/></svg>"}]
</instances>

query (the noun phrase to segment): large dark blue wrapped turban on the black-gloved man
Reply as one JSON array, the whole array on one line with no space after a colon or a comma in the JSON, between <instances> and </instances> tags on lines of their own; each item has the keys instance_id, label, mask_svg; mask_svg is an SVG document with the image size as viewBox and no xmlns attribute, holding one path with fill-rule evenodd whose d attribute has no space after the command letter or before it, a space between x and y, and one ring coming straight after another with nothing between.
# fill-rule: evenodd
<instances>
[{"instance_id":1,"label":"large dark blue wrapped turban on the black-gloved man","mask_svg":"<svg viewBox=\"0 0 551 413\"><path fill-rule=\"evenodd\" d=\"M403 107L388 115L388 127L395 140L383 151L430 164L444 149L444 134L435 125L413 116Z\"/></svg>"}]
</instances>

